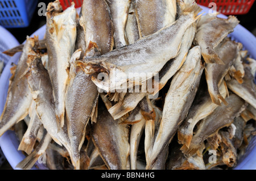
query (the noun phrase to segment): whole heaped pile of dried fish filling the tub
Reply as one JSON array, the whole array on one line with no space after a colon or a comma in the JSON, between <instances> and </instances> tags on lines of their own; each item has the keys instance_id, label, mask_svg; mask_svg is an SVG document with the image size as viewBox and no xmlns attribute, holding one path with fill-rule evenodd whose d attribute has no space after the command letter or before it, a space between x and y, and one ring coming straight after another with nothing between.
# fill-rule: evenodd
<instances>
[{"instance_id":1,"label":"whole heaped pile of dried fish filling the tub","mask_svg":"<svg viewBox=\"0 0 256 181\"><path fill-rule=\"evenodd\" d=\"M5 52L22 51L0 118L27 155L17 167L43 156L47 169L236 166L255 135L256 61L228 37L235 16L200 11L193 0L84 0L79 15L49 3L46 38Z\"/></svg>"}]
</instances>

